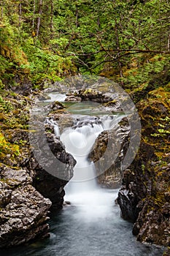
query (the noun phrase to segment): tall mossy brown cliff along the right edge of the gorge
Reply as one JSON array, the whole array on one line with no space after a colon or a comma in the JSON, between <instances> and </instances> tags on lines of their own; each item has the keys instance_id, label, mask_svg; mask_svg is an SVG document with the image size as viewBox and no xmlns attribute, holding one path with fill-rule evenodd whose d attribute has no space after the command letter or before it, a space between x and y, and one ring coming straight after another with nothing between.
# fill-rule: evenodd
<instances>
[{"instance_id":1,"label":"tall mossy brown cliff along the right edge of the gorge","mask_svg":"<svg viewBox=\"0 0 170 256\"><path fill-rule=\"evenodd\" d=\"M150 94L150 99L137 105L142 141L134 162L123 173L117 201L123 218L134 222L139 241L169 246L169 92L161 89Z\"/></svg>"}]
</instances>

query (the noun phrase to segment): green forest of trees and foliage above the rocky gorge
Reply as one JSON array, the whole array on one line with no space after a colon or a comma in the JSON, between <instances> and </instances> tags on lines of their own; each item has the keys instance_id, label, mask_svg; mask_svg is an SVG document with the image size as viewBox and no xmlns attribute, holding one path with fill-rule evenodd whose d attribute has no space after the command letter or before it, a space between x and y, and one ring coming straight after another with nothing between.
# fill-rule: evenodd
<instances>
[{"instance_id":1,"label":"green forest of trees and foliage above the rocky gorge","mask_svg":"<svg viewBox=\"0 0 170 256\"><path fill-rule=\"evenodd\" d=\"M82 74L169 80L169 0L1 1L0 88ZM162 80L162 79L161 79ZM130 86L130 87L129 87Z\"/></svg>"}]
</instances>

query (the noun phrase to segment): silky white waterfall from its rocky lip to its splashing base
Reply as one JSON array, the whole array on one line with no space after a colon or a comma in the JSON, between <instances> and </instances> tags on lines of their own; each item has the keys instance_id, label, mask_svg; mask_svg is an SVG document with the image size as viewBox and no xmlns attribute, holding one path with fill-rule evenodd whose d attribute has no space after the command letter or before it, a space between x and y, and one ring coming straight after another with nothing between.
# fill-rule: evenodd
<instances>
[{"instance_id":1,"label":"silky white waterfall from its rocky lip to its splashing base","mask_svg":"<svg viewBox=\"0 0 170 256\"><path fill-rule=\"evenodd\" d=\"M108 197L108 194L105 197L96 183L96 168L93 162L88 160L88 155L98 135L115 127L121 118L122 116L74 116L73 127L62 132L60 139L66 146L66 151L77 160L74 176L64 188L65 200L74 204L95 206L96 203L108 205L109 198L111 204L111 197ZM87 212L90 214L89 209Z\"/></svg>"}]
</instances>

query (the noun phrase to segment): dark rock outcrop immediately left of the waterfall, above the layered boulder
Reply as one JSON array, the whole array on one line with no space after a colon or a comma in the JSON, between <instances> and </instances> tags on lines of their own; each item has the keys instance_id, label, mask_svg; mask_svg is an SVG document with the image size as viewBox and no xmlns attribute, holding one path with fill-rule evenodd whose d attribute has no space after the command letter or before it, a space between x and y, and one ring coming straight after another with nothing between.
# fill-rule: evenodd
<instances>
[{"instance_id":1,"label":"dark rock outcrop immediately left of the waterfall, above the layered boulder","mask_svg":"<svg viewBox=\"0 0 170 256\"><path fill-rule=\"evenodd\" d=\"M62 208L63 187L72 178L76 161L65 151L61 141L51 133L40 132L34 137L34 143L38 150L36 149L36 153L34 151L35 155L29 162L29 168L35 172L34 187L50 198L53 208Z\"/></svg>"}]
</instances>

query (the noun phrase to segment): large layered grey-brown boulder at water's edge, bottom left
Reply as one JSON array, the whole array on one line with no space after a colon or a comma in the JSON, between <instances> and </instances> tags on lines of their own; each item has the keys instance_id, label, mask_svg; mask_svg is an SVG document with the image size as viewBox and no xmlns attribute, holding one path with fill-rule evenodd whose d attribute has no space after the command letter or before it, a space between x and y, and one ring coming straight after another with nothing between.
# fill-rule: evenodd
<instances>
[{"instance_id":1,"label":"large layered grey-brown boulder at water's edge, bottom left","mask_svg":"<svg viewBox=\"0 0 170 256\"><path fill-rule=\"evenodd\" d=\"M32 187L26 170L1 165L0 177L0 247L47 237L50 200Z\"/></svg>"}]
</instances>

